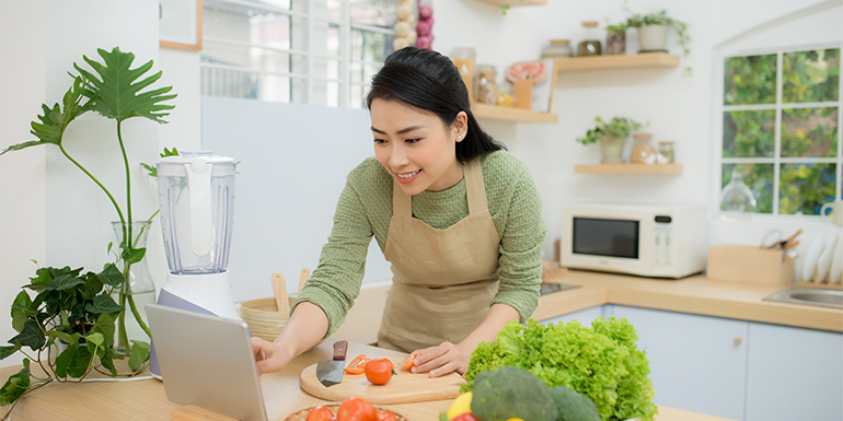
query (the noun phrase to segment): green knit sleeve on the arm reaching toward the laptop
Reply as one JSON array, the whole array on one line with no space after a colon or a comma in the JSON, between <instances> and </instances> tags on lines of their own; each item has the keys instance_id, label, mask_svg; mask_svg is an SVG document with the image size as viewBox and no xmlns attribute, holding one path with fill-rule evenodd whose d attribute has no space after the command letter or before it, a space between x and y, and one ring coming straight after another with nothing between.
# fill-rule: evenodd
<instances>
[{"instance_id":1,"label":"green knit sleeve on the arm reaching toward the laptop","mask_svg":"<svg viewBox=\"0 0 843 421\"><path fill-rule=\"evenodd\" d=\"M319 265L290 308L292 312L304 301L320 306L328 320L325 338L345 321L354 300L360 294L371 238L372 229L362 201L351 183L346 182L334 213L334 226L327 244L322 247Z\"/></svg>"}]
</instances>

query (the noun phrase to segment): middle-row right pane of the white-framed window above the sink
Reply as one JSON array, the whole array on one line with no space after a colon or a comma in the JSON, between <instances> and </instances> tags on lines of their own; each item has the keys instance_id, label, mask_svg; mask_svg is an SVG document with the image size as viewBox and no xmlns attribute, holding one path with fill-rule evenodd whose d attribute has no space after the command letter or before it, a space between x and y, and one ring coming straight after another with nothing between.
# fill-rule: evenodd
<instances>
[{"instance_id":1,"label":"middle-row right pane of the white-framed window above the sink","mask_svg":"<svg viewBox=\"0 0 843 421\"><path fill-rule=\"evenodd\" d=\"M782 110L782 156L838 156L838 108Z\"/></svg>"}]
</instances>

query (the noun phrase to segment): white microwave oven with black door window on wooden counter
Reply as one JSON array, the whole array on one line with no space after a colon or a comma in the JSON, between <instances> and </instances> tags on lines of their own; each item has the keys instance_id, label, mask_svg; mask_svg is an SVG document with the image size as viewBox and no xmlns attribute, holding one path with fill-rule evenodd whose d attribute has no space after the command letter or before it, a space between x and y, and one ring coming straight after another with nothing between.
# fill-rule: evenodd
<instances>
[{"instance_id":1,"label":"white microwave oven with black door window on wooden counter","mask_svg":"<svg viewBox=\"0 0 843 421\"><path fill-rule=\"evenodd\" d=\"M653 278L705 269L703 206L573 203L562 213L562 266Z\"/></svg>"}]
</instances>

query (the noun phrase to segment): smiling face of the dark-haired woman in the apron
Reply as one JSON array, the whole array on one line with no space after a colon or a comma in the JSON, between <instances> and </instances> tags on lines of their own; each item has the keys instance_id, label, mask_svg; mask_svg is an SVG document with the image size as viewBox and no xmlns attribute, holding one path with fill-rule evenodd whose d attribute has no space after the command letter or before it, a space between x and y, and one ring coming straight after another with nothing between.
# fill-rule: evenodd
<instances>
[{"instance_id":1,"label":"smiling face of the dark-haired woman in the apron","mask_svg":"<svg viewBox=\"0 0 843 421\"><path fill-rule=\"evenodd\" d=\"M444 190L460 183L457 142L465 138L465 113L446 127L436 114L396 101L373 100L370 110L374 155L404 192Z\"/></svg>"}]
</instances>

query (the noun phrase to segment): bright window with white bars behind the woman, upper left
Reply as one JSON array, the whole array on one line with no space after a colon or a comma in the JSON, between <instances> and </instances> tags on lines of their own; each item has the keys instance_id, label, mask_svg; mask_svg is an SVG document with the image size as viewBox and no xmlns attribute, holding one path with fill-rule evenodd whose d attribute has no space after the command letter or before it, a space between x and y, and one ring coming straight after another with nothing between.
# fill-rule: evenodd
<instances>
[{"instance_id":1,"label":"bright window with white bars behind the woman, upper left","mask_svg":"<svg viewBox=\"0 0 843 421\"><path fill-rule=\"evenodd\" d=\"M360 108L395 0L205 0L201 93Z\"/></svg>"}]
</instances>

